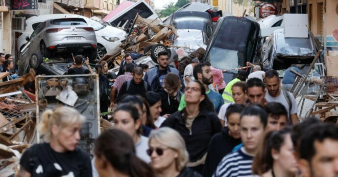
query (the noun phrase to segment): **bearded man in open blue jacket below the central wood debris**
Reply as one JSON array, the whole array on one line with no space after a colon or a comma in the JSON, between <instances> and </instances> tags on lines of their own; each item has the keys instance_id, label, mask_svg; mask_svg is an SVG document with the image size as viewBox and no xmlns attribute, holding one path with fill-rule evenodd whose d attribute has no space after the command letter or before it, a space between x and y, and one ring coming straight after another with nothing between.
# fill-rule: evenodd
<instances>
[{"instance_id":1,"label":"bearded man in open blue jacket below the central wood debris","mask_svg":"<svg viewBox=\"0 0 338 177\"><path fill-rule=\"evenodd\" d=\"M145 73L144 81L148 83L151 91L156 91L164 85L164 78L169 72L177 74L180 73L177 69L169 66L169 58L167 51L161 51L157 56L157 63L155 67L152 67Z\"/></svg>"}]
</instances>

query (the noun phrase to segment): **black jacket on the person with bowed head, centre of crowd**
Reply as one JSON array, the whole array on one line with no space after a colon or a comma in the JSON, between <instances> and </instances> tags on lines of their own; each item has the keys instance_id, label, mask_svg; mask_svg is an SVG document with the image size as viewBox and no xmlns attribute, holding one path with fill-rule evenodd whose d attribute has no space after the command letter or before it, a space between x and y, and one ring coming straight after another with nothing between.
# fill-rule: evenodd
<instances>
[{"instance_id":1,"label":"black jacket on the person with bowed head, centre of crowd","mask_svg":"<svg viewBox=\"0 0 338 177\"><path fill-rule=\"evenodd\" d=\"M178 106L180 105L181 97L183 95L182 92L179 91L175 97L169 96L164 88L160 88L156 92L161 96L161 116L165 114L172 114L177 111Z\"/></svg>"}]
</instances>

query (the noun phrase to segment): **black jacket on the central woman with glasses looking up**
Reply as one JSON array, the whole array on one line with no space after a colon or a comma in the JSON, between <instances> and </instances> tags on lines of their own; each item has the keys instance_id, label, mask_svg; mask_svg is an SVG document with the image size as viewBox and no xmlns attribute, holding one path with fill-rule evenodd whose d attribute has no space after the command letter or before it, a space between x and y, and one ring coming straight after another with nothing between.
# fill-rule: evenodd
<instances>
[{"instance_id":1,"label":"black jacket on the central woman with glasses looking up","mask_svg":"<svg viewBox=\"0 0 338 177\"><path fill-rule=\"evenodd\" d=\"M203 157L208 151L209 142L213 135L222 129L218 117L210 111L199 111L199 114L193 120L191 131L186 127L180 111L171 114L161 127L170 127L181 134L186 143L191 162Z\"/></svg>"}]
</instances>

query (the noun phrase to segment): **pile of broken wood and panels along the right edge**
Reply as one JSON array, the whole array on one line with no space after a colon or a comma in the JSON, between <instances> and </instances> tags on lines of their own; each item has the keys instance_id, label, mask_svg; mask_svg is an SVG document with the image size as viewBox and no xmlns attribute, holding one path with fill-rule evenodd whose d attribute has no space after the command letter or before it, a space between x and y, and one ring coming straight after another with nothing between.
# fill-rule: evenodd
<instances>
[{"instance_id":1,"label":"pile of broken wood and panels along the right edge","mask_svg":"<svg viewBox=\"0 0 338 177\"><path fill-rule=\"evenodd\" d=\"M291 88L291 92L298 101L299 117L305 118L315 116L323 122L333 122L338 124L338 73L335 69L336 65L331 65L336 58L326 56L326 76L309 77L315 66L317 59L320 57L322 50L317 52L308 71L301 75L290 69L296 74L296 81ZM320 65L320 64L317 64ZM323 64L321 64L323 65ZM324 73L324 71L322 71ZM331 111L334 110L334 111ZM302 113L305 112L303 115Z\"/></svg>"}]
</instances>

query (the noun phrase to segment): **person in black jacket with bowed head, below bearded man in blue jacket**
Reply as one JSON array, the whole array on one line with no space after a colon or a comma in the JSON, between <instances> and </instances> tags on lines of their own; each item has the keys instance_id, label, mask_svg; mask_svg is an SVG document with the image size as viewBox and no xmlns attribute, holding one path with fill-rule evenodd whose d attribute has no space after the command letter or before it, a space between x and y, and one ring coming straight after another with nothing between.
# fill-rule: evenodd
<instances>
[{"instance_id":1,"label":"person in black jacket with bowed head, below bearded man in blue jacket","mask_svg":"<svg viewBox=\"0 0 338 177\"><path fill-rule=\"evenodd\" d=\"M168 117L177 111L183 93L180 91L181 80L177 74L168 73L164 78L164 88L157 90L161 96L161 116Z\"/></svg>"}]
</instances>

